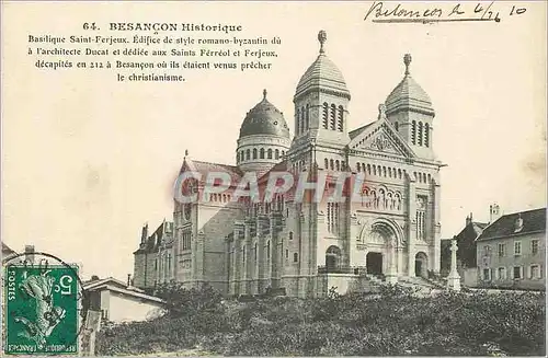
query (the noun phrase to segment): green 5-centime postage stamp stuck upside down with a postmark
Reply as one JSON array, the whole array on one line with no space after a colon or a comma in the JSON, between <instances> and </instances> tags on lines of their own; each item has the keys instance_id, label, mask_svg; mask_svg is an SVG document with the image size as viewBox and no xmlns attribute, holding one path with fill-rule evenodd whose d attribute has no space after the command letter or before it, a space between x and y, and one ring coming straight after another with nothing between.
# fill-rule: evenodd
<instances>
[{"instance_id":1,"label":"green 5-centime postage stamp stuck upside down with a postmark","mask_svg":"<svg viewBox=\"0 0 548 358\"><path fill-rule=\"evenodd\" d=\"M77 354L78 267L7 265L4 353Z\"/></svg>"}]
</instances>

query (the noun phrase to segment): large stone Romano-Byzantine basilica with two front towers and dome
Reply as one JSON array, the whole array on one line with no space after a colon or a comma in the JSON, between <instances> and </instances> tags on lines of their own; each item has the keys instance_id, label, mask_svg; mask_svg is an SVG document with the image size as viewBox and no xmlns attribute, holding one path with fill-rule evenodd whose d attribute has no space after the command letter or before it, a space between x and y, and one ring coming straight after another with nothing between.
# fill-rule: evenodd
<instances>
[{"instance_id":1,"label":"large stone Romano-Byzantine basilica with two front towers and dome","mask_svg":"<svg viewBox=\"0 0 548 358\"><path fill-rule=\"evenodd\" d=\"M283 290L315 297L332 287L361 289L373 277L397 282L439 273L444 165L433 151L435 112L411 77L411 56L404 56L403 78L379 105L377 120L351 130L351 93L326 54L323 31L318 41L319 55L295 91L293 138L264 91L241 125L236 165L185 155L181 174L203 174L185 188L201 199L174 200L173 222L161 229L170 229L163 235L169 242L149 244L142 235L134 253L135 286L175 280L187 287L207 282L229 296ZM235 184L210 193L206 177L212 172L226 173ZM264 190L276 172L311 182L327 178L326 192L342 176L364 181L347 182L359 185L357 200L298 200L295 187L271 201L235 198L247 173L254 173Z\"/></svg>"}]
</instances>

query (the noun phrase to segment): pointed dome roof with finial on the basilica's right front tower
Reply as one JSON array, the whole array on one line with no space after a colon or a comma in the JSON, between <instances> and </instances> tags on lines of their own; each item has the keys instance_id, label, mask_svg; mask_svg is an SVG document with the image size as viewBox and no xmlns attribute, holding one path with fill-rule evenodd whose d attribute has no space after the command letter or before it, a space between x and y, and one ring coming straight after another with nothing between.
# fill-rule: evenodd
<instances>
[{"instance_id":1,"label":"pointed dome roof with finial on the basilica's right front tower","mask_svg":"<svg viewBox=\"0 0 548 358\"><path fill-rule=\"evenodd\" d=\"M411 55L403 57L406 63L406 74L400 83L392 90L386 99L387 114L399 111L415 111L429 115L434 115L434 107L429 94L411 77L409 66L411 65Z\"/></svg>"}]
</instances>

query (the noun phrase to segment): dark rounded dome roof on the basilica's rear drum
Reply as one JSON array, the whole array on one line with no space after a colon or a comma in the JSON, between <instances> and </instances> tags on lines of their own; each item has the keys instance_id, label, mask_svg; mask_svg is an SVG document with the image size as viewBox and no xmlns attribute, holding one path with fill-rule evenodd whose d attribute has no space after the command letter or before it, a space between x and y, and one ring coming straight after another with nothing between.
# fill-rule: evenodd
<instances>
[{"instance_id":1,"label":"dark rounded dome roof on the basilica's rear drum","mask_svg":"<svg viewBox=\"0 0 548 358\"><path fill-rule=\"evenodd\" d=\"M248 112L240 127L240 138L254 135L289 138L284 115L266 100L266 90L263 91L263 100Z\"/></svg>"}]
</instances>

